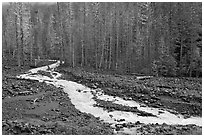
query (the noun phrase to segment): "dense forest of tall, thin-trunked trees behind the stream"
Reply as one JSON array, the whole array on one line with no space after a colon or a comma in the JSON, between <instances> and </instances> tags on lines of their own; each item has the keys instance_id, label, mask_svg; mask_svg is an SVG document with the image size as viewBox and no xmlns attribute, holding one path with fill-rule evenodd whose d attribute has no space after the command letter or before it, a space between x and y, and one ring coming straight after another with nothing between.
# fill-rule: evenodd
<instances>
[{"instance_id":1,"label":"dense forest of tall, thin-trunked trees behind the stream","mask_svg":"<svg viewBox=\"0 0 204 137\"><path fill-rule=\"evenodd\" d=\"M71 67L201 76L202 3L9 3L3 58L18 66L60 59Z\"/></svg>"}]
</instances>

